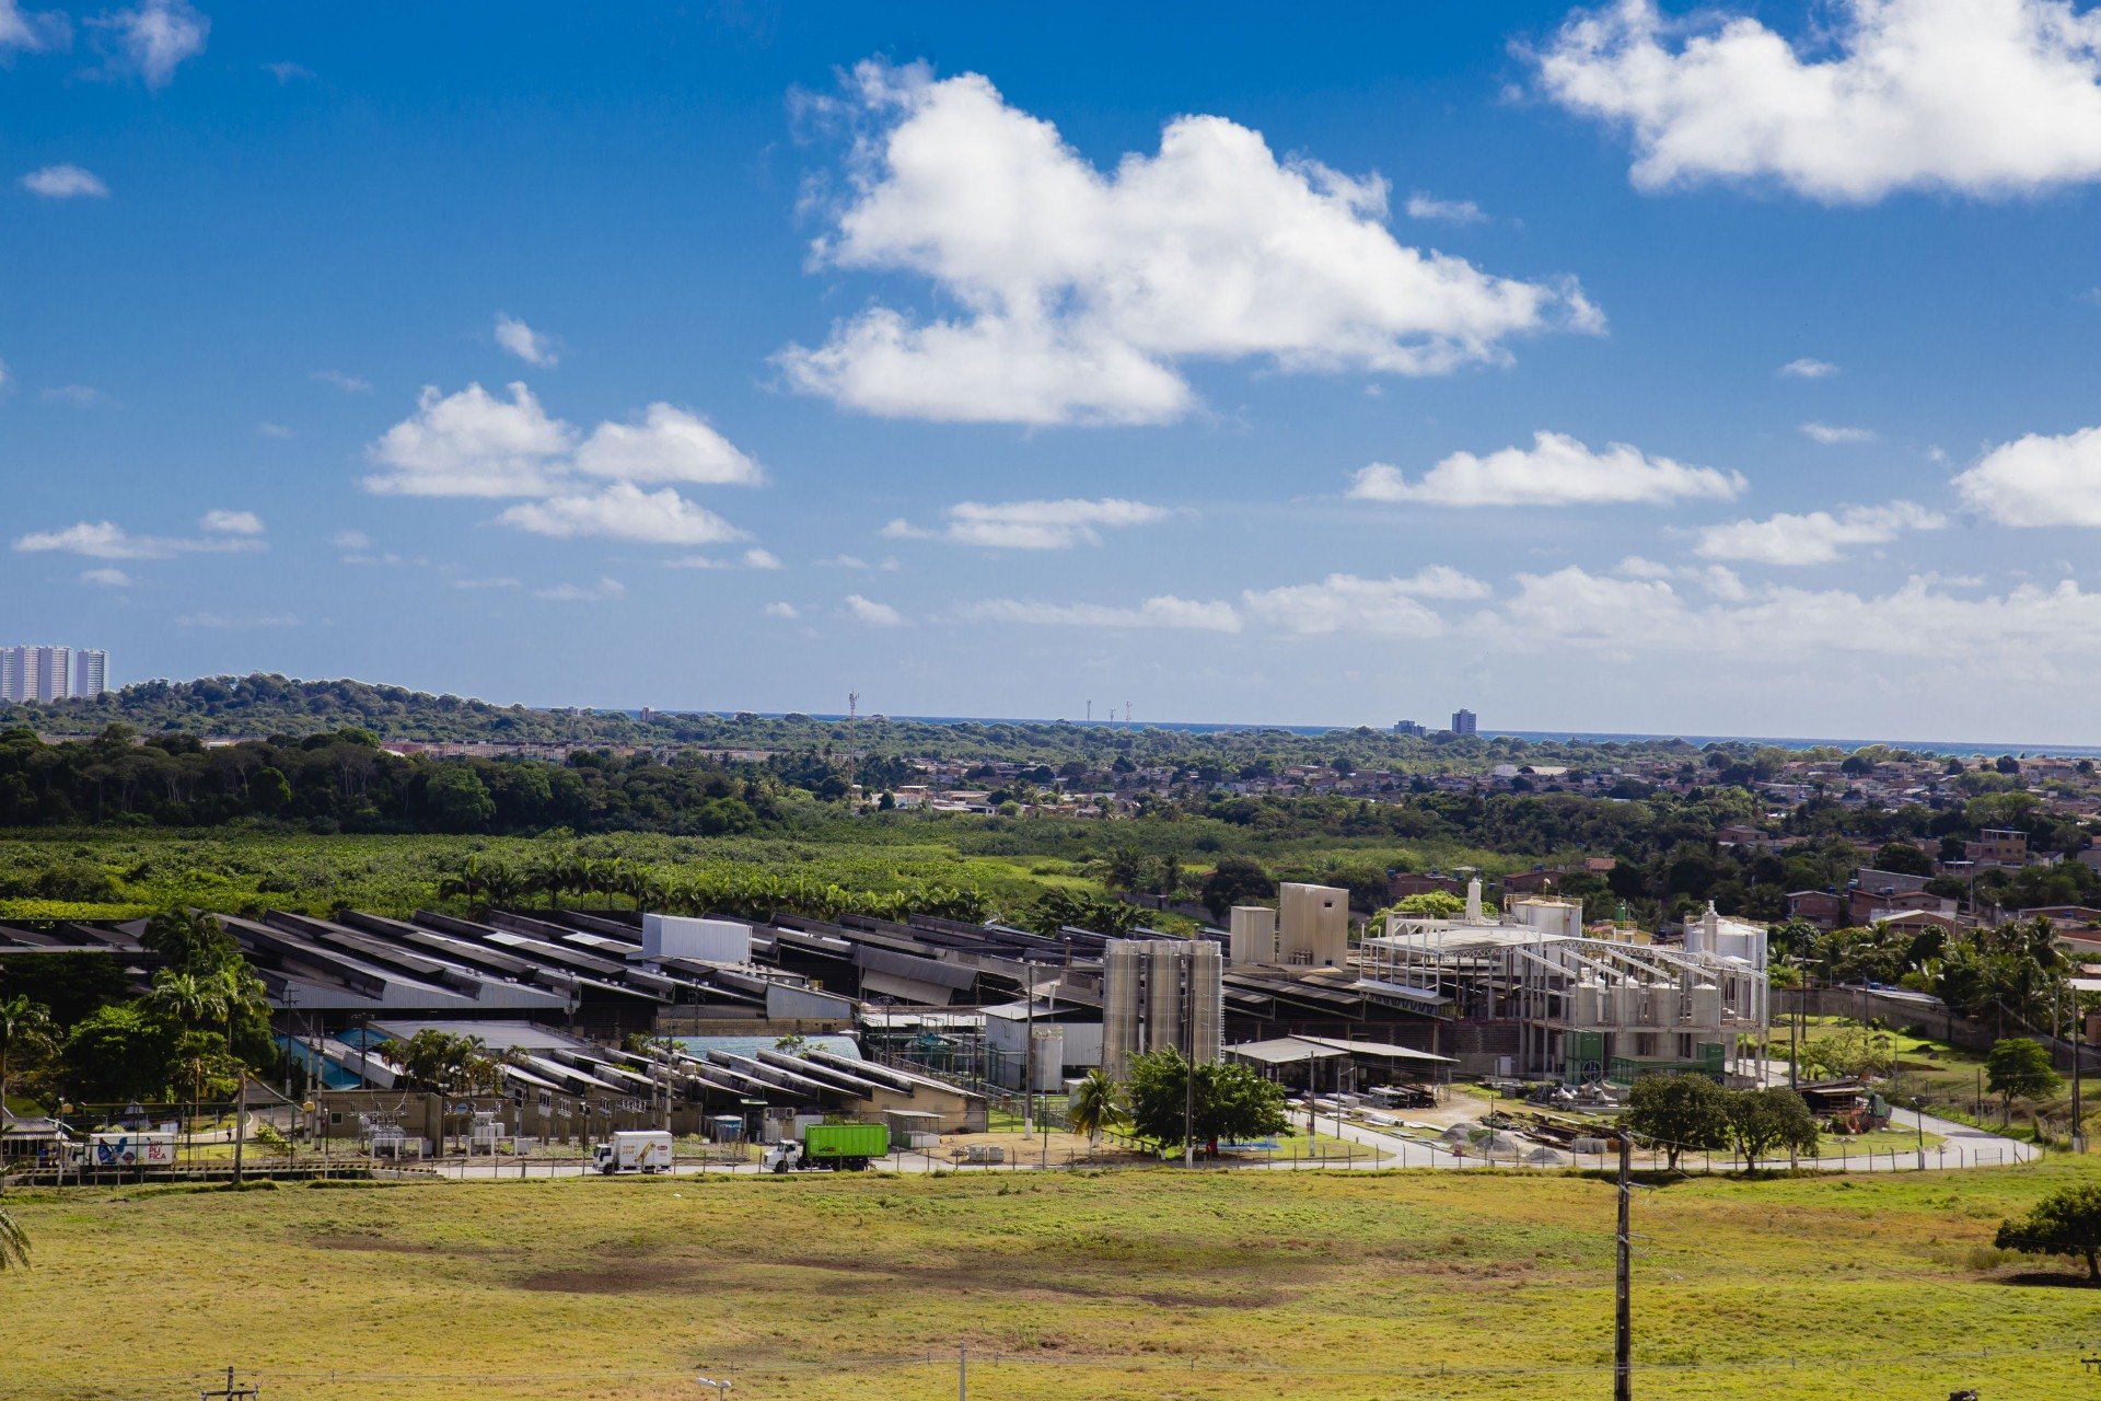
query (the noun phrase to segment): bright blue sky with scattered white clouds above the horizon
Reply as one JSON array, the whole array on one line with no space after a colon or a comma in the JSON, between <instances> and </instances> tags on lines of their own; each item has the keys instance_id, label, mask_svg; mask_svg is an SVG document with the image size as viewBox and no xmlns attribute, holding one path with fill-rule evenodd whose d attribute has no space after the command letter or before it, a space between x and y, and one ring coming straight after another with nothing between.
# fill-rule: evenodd
<instances>
[{"instance_id":1,"label":"bright blue sky with scattered white clouds above the horizon","mask_svg":"<svg viewBox=\"0 0 2101 1401\"><path fill-rule=\"evenodd\" d=\"M2093 741L2093 11L0 0L0 630L120 681Z\"/></svg>"}]
</instances>

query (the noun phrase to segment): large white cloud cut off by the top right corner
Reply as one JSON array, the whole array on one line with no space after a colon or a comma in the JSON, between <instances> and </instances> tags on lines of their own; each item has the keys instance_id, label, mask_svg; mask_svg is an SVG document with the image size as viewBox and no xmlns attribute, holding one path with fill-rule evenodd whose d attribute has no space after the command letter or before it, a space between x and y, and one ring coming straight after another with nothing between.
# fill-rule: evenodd
<instances>
[{"instance_id":1,"label":"large white cloud cut off by the top right corner","mask_svg":"<svg viewBox=\"0 0 2101 1401\"><path fill-rule=\"evenodd\" d=\"M1777 183L1832 204L2009 195L2101 174L2101 17L2065 0L1840 0L1805 59L1748 15L1574 15L1540 80L1624 126L1635 185Z\"/></svg>"}]
</instances>

